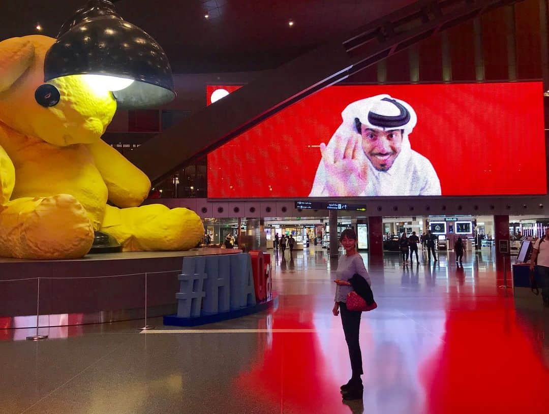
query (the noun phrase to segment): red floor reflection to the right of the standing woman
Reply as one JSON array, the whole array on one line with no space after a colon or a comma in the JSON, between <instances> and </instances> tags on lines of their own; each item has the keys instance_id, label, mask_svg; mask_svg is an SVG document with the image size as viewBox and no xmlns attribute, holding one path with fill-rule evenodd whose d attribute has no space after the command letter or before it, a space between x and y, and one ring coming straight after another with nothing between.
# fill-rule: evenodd
<instances>
[{"instance_id":1,"label":"red floor reflection to the right of the standing woman","mask_svg":"<svg viewBox=\"0 0 549 414\"><path fill-rule=\"evenodd\" d=\"M529 340L532 326L512 300L494 298L467 310L457 302L450 298L444 343L420 369L424 412L548 412L549 360Z\"/></svg>"}]
</instances>

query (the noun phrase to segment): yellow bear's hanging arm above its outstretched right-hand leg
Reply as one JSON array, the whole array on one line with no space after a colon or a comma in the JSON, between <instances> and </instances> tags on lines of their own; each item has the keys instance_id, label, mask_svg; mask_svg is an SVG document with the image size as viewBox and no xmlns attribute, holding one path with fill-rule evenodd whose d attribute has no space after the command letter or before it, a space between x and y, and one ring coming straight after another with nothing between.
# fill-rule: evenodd
<instances>
[{"instance_id":1,"label":"yellow bear's hanging arm above its outstretched right-hand leg","mask_svg":"<svg viewBox=\"0 0 549 414\"><path fill-rule=\"evenodd\" d=\"M120 208L141 205L149 195L150 180L147 175L102 139L86 146L107 184L109 201Z\"/></svg>"}]
</instances>

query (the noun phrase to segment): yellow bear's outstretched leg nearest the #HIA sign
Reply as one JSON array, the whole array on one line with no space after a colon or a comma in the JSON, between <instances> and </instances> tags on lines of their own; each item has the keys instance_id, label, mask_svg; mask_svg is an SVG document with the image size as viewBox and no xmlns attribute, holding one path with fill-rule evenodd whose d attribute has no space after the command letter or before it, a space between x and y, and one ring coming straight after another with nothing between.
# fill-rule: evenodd
<instances>
[{"instance_id":1,"label":"yellow bear's outstretched leg nearest the #HIA sign","mask_svg":"<svg viewBox=\"0 0 549 414\"><path fill-rule=\"evenodd\" d=\"M107 206L101 231L114 236L126 252L188 250L204 236L202 220L195 212L161 204Z\"/></svg>"}]
</instances>

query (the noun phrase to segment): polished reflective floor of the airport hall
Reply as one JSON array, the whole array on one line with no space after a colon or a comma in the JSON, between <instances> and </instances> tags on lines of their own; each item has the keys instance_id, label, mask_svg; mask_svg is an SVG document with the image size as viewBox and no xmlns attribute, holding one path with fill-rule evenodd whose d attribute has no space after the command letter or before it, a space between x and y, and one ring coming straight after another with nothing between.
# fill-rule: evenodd
<instances>
[{"instance_id":1,"label":"polished reflective floor of the airport hall","mask_svg":"<svg viewBox=\"0 0 549 414\"><path fill-rule=\"evenodd\" d=\"M492 253L368 265L363 400L350 376L333 270L322 249L275 259L278 307L199 328L149 320L0 331L0 413L547 413L549 309L498 289ZM421 256L420 256L420 259ZM167 332L166 332L167 331Z\"/></svg>"}]
</instances>

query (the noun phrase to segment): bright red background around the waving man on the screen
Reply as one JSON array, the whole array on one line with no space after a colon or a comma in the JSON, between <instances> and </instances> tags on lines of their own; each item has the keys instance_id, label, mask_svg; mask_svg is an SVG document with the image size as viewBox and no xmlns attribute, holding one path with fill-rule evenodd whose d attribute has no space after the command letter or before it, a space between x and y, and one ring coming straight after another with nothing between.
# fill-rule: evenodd
<instances>
[{"instance_id":1,"label":"bright red background around the waving man on the screen","mask_svg":"<svg viewBox=\"0 0 549 414\"><path fill-rule=\"evenodd\" d=\"M215 89L208 86L208 104ZM541 82L332 86L212 151L208 197L307 197L318 145L341 124L341 111L386 93L410 104L412 149L427 157L442 195L546 194Z\"/></svg>"}]
</instances>

